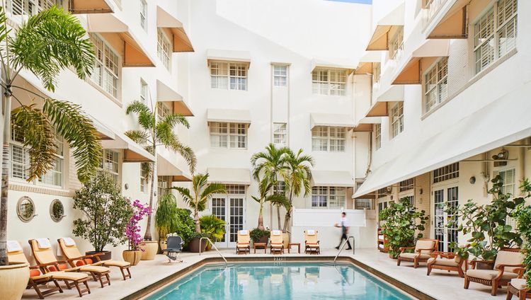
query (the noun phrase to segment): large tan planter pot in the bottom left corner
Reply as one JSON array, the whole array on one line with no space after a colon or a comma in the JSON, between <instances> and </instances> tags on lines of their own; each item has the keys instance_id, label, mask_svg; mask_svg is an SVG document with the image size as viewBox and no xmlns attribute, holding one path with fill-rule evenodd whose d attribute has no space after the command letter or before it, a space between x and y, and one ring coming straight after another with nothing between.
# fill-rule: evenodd
<instances>
[{"instance_id":1,"label":"large tan planter pot in the bottom left corner","mask_svg":"<svg viewBox=\"0 0 531 300\"><path fill-rule=\"evenodd\" d=\"M30 267L25 262L0 266L0 299L20 300L29 279Z\"/></svg>"}]
</instances>

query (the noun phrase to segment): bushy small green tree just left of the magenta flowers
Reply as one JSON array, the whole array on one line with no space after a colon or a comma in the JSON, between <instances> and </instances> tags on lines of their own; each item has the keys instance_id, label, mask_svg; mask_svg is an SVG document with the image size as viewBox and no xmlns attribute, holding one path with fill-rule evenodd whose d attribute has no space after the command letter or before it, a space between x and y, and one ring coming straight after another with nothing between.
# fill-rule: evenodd
<instances>
[{"instance_id":1,"label":"bushy small green tree just left of the magenta flowers","mask_svg":"<svg viewBox=\"0 0 531 300\"><path fill-rule=\"evenodd\" d=\"M107 173L98 173L76 190L74 209L85 215L74 220L74 236L89 240L96 252L108 244L118 246L127 241L125 231L133 208Z\"/></svg>"}]
</instances>

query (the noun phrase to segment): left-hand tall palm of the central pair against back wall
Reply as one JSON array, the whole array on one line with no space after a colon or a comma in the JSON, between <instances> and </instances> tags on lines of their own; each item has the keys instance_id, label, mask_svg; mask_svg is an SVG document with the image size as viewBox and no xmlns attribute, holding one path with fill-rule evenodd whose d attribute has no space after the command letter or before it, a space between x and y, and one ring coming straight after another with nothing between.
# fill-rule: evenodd
<instances>
[{"instance_id":1,"label":"left-hand tall palm of the central pair against back wall","mask_svg":"<svg viewBox=\"0 0 531 300\"><path fill-rule=\"evenodd\" d=\"M277 148L275 144L270 143L265 147L265 151L253 154L251 156L253 177L260 182L260 175L263 174L263 178L268 178L273 186L278 186L278 176L282 177L282 173L286 171L285 154L288 151L290 149L287 147ZM280 205L276 205L276 207L278 229L280 230Z\"/></svg>"}]
</instances>

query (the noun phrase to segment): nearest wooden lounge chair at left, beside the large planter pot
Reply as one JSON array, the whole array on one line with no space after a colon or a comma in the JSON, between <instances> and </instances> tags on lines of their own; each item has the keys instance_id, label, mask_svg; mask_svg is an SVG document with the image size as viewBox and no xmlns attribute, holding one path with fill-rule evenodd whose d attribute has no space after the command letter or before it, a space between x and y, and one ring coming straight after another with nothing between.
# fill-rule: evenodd
<instances>
[{"instance_id":1,"label":"nearest wooden lounge chair at left, beside the large planter pot","mask_svg":"<svg viewBox=\"0 0 531 300\"><path fill-rule=\"evenodd\" d=\"M24 255L21 244L18 243L18 241L7 241L7 248L7 257L10 262L25 262L28 265L30 264L30 262L28 262L28 258L26 258ZM91 293L89 284L87 284L89 275L84 273L62 271L44 273L42 270L40 270L40 267L40 265L30 266L30 279L28 280L28 286L26 287L27 289L33 287L35 292L37 292L39 299L45 299L45 296L52 294L53 292L63 292L57 280L64 281L69 289L71 284L74 285L80 297L83 296L84 292L88 292L89 294ZM46 287L46 285L50 282L53 283L55 287L42 290L40 286L43 285ZM81 289L79 284L85 284L86 288Z\"/></svg>"}]
</instances>

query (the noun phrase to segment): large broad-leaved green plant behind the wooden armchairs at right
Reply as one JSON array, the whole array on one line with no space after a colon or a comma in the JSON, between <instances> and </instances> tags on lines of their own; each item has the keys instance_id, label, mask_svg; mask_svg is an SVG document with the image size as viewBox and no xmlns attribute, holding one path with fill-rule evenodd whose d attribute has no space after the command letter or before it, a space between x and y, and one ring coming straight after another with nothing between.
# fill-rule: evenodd
<instances>
[{"instance_id":1,"label":"large broad-leaved green plant behind the wooden armchairs at right","mask_svg":"<svg viewBox=\"0 0 531 300\"><path fill-rule=\"evenodd\" d=\"M455 242L450 243L450 247L457 249L456 252L463 258L472 254L474 259L493 260L501 248L518 247L523 243L520 234L507 224L507 218L514 217L515 208L525 199L512 198L510 193L504 193L500 175L493 178L491 183L491 203L477 204L474 200L468 200L463 205L447 205L445 209L447 214L455 216L447 226L457 228L464 235L470 234L467 246L459 247Z\"/></svg>"}]
</instances>

